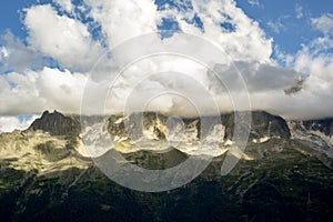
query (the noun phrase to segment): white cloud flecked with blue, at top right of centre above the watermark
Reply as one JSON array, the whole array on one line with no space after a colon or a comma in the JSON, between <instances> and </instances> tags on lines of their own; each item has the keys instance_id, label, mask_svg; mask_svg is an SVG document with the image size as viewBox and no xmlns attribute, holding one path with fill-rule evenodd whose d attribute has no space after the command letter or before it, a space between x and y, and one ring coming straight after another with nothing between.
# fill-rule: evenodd
<instances>
[{"instance_id":1,"label":"white cloud flecked with blue, at top right of centre above the watermark","mask_svg":"<svg viewBox=\"0 0 333 222\"><path fill-rule=\"evenodd\" d=\"M213 42L225 50L231 60L270 62L272 39L234 1L195 0L192 4L192 12L172 9L162 12L162 16L173 16L181 30ZM202 20L204 32L185 21L194 14ZM221 23L233 27L233 30L223 29Z\"/></svg>"}]
</instances>

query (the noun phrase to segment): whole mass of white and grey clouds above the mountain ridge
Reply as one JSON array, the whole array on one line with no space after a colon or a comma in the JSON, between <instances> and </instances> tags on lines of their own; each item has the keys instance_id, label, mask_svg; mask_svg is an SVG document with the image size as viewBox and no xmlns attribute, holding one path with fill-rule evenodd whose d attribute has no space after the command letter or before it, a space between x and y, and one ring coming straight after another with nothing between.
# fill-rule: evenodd
<instances>
[{"instance_id":1,"label":"whole mass of white and grey clouds above the mountain ridge","mask_svg":"<svg viewBox=\"0 0 333 222\"><path fill-rule=\"evenodd\" d=\"M193 97L193 100L196 98L208 112L211 105L208 97L215 99L220 110L232 110L232 91L239 92L234 98L236 100L249 97L253 109L289 118L326 117L333 109L332 102L324 102L332 101L333 60L332 56L322 53L333 46L331 14L311 20L313 27L322 32L321 37L296 54L281 56L290 64L286 69L271 58L273 39L233 0L173 1L172 6L169 3L160 9L151 0L85 0L87 6L75 6L70 0L54 2L65 13L57 11L52 4L26 9L28 44L9 34L7 39L10 41L0 48L2 68L10 70L18 64L0 75L2 115L39 113L46 109L78 113L87 89L92 91L85 98L88 104L94 104L105 98L104 92L109 92L109 100L103 102L113 112L125 107L129 97L131 109L135 109L140 100L165 91L181 91L189 98ZM259 4L259 1L249 2ZM78 7L89 8L88 21L83 22L75 14ZM296 7L296 12L299 17L302 10ZM169 38L154 33L140 39L142 34L159 31L165 18L178 24L176 32ZM94 38L97 33L90 29L91 22L100 26L102 40ZM278 31L282 29L278 28ZM198 36L225 53L221 57L214 50L202 47L200 41L181 38L181 31ZM132 38L140 41L121 44ZM157 49L170 50L174 54L185 49L192 60L174 54L140 58L154 54ZM111 51L105 56L108 50ZM102 54L104 57L101 58ZM204 57L198 62L195 58L200 58L199 54ZM59 67L50 68L43 60L41 62L41 58L46 57L56 60ZM131 63L134 58L141 60ZM94 67L98 61L102 65ZM208 70L203 64L213 69ZM125 65L129 67L121 70ZM92 72L94 75L87 85ZM150 73L162 74L145 78ZM294 84L294 79L299 77L302 82ZM246 92L238 91L240 82L245 83ZM112 90L108 91L111 83ZM285 89L287 93L297 93L287 97ZM193 109L190 102L174 94L157 97L148 107L151 110L193 114L189 112ZM89 109L91 113L95 112L94 105Z\"/></svg>"}]
</instances>

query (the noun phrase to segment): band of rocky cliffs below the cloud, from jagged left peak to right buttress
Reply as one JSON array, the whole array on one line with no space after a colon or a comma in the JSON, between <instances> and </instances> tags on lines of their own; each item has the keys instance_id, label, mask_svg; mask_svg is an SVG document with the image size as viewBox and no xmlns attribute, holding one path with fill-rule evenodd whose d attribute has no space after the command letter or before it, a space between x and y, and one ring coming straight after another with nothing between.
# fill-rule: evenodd
<instances>
[{"instance_id":1,"label":"band of rocky cliffs below the cloud, from jagged left peak to right buttress","mask_svg":"<svg viewBox=\"0 0 333 222\"><path fill-rule=\"evenodd\" d=\"M111 149L131 153L170 148L190 155L219 157L230 151L236 157L246 157L242 149L234 148L235 113L186 119L142 112L80 119L78 115L65 117L57 111L46 111L29 130L67 137L71 143L81 144L77 150L83 157L100 157ZM249 144L268 143L272 139L281 139L279 143L283 143L290 138L286 122L263 111L251 112L251 124L242 125L241 130L249 131L249 141L245 141Z\"/></svg>"}]
</instances>

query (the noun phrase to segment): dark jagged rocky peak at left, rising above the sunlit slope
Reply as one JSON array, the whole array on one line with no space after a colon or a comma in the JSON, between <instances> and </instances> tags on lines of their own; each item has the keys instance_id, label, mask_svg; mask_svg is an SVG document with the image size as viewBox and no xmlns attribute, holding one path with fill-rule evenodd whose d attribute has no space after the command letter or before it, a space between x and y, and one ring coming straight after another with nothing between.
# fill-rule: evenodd
<instances>
[{"instance_id":1,"label":"dark jagged rocky peak at left, rising above the sunlit slope","mask_svg":"<svg viewBox=\"0 0 333 222\"><path fill-rule=\"evenodd\" d=\"M43 112L42 117L37 119L29 130L41 130L49 132L51 135L73 135L80 133L80 121L78 117L64 117L62 113L54 111Z\"/></svg>"}]
</instances>

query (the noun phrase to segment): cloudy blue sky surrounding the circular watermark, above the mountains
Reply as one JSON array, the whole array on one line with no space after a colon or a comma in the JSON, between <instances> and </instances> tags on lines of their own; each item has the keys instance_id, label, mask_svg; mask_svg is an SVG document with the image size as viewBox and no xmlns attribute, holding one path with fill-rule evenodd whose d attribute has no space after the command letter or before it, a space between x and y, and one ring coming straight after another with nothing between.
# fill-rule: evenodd
<instances>
[{"instance_id":1,"label":"cloudy blue sky surrounding the circular watermark, above the mountains","mask_svg":"<svg viewBox=\"0 0 333 222\"><path fill-rule=\"evenodd\" d=\"M7 0L0 7L0 117L27 123L46 109L78 112L83 82L105 50L169 29L162 39L185 31L225 49L244 70L254 109L333 115L332 0ZM301 90L286 94L294 84Z\"/></svg>"}]
</instances>

